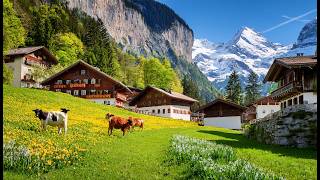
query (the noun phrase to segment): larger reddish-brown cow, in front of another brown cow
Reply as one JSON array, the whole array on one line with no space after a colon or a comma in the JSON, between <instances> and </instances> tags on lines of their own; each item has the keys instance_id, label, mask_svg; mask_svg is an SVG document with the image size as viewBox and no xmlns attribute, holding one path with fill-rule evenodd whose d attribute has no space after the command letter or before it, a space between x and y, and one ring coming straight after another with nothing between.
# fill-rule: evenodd
<instances>
[{"instance_id":1,"label":"larger reddish-brown cow, in front of another brown cow","mask_svg":"<svg viewBox=\"0 0 320 180\"><path fill-rule=\"evenodd\" d=\"M113 128L115 129L121 129L123 132L123 136L127 130L130 129L132 126L132 120L125 118L114 116L113 114L107 114L106 118L109 120L109 129L108 129L108 135L110 136L112 134Z\"/></svg>"}]
</instances>

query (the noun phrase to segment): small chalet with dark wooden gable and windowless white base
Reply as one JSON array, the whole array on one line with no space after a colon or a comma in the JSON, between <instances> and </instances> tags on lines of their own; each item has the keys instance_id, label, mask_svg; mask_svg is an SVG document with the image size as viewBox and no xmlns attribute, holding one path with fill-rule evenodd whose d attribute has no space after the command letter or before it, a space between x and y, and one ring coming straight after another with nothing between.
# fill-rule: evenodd
<instances>
[{"instance_id":1,"label":"small chalet with dark wooden gable and windowless white base","mask_svg":"<svg viewBox=\"0 0 320 180\"><path fill-rule=\"evenodd\" d=\"M218 98L200 107L196 112L204 113L205 126L241 129L241 116L245 109L236 103Z\"/></svg>"}]
</instances>

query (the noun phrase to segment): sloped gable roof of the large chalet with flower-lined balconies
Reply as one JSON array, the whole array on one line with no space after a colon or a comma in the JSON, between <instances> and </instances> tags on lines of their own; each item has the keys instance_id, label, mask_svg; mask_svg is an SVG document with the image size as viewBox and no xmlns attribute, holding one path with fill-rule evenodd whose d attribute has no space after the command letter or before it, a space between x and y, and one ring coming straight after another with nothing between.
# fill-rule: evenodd
<instances>
[{"instance_id":1,"label":"sloped gable roof of the large chalet with flower-lined balconies","mask_svg":"<svg viewBox=\"0 0 320 180\"><path fill-rule=\"evenodd\" d=\"M111 79L111 80L114 81L116 84L119 84L119 85L122 86L124 89L126 89L128 92L132 93L132 91L131 91L126 85L124 85L122 82L120 82L120 81L118 81L118 80L115 80L114 78L112 78L112 77L109 76L108 74L100 71L98 68L96 68L96 67L94 67L94 66L91 66L90 64L88 64L88 63L86 63L86 62L84 62L84 61L82 61L82 60L79 60L79 61L77 61L76 63L70 65L69 67L63 69L62 71L60 71L60 72L52 75L52 76L49 77L48 79L42 81L41 84L42 84L42 85L47 85L51 80L53 80L54 78L60 76L61 74L65 73L66 71L68 71L69 69L75 67L75 66L78 65L78 64L82 64L82 65L88 67L89 69L92 69L92 70L94 70L94 71L97 72L97 73L100 73L100 74L103 75L104 77Z\"/></svg>"}]
</instances>

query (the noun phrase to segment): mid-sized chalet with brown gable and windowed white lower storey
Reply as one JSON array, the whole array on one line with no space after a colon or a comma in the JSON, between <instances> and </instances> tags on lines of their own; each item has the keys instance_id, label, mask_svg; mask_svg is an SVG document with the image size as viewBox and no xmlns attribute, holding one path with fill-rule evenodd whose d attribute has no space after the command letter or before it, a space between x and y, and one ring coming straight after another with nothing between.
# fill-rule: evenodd
<instances>
[{"instance_id":1,"label":"mid-sized chalet with brown gable and windowed white lower storey","mask_svg":"<svg viewBox=\"0 0 320 180\"><path fill-rule=\"evenodd\" d=\"M190 121L190 106L195 102L186 95L147 86L129 105L140 113Z\"/></svg>"}]
</instances>

